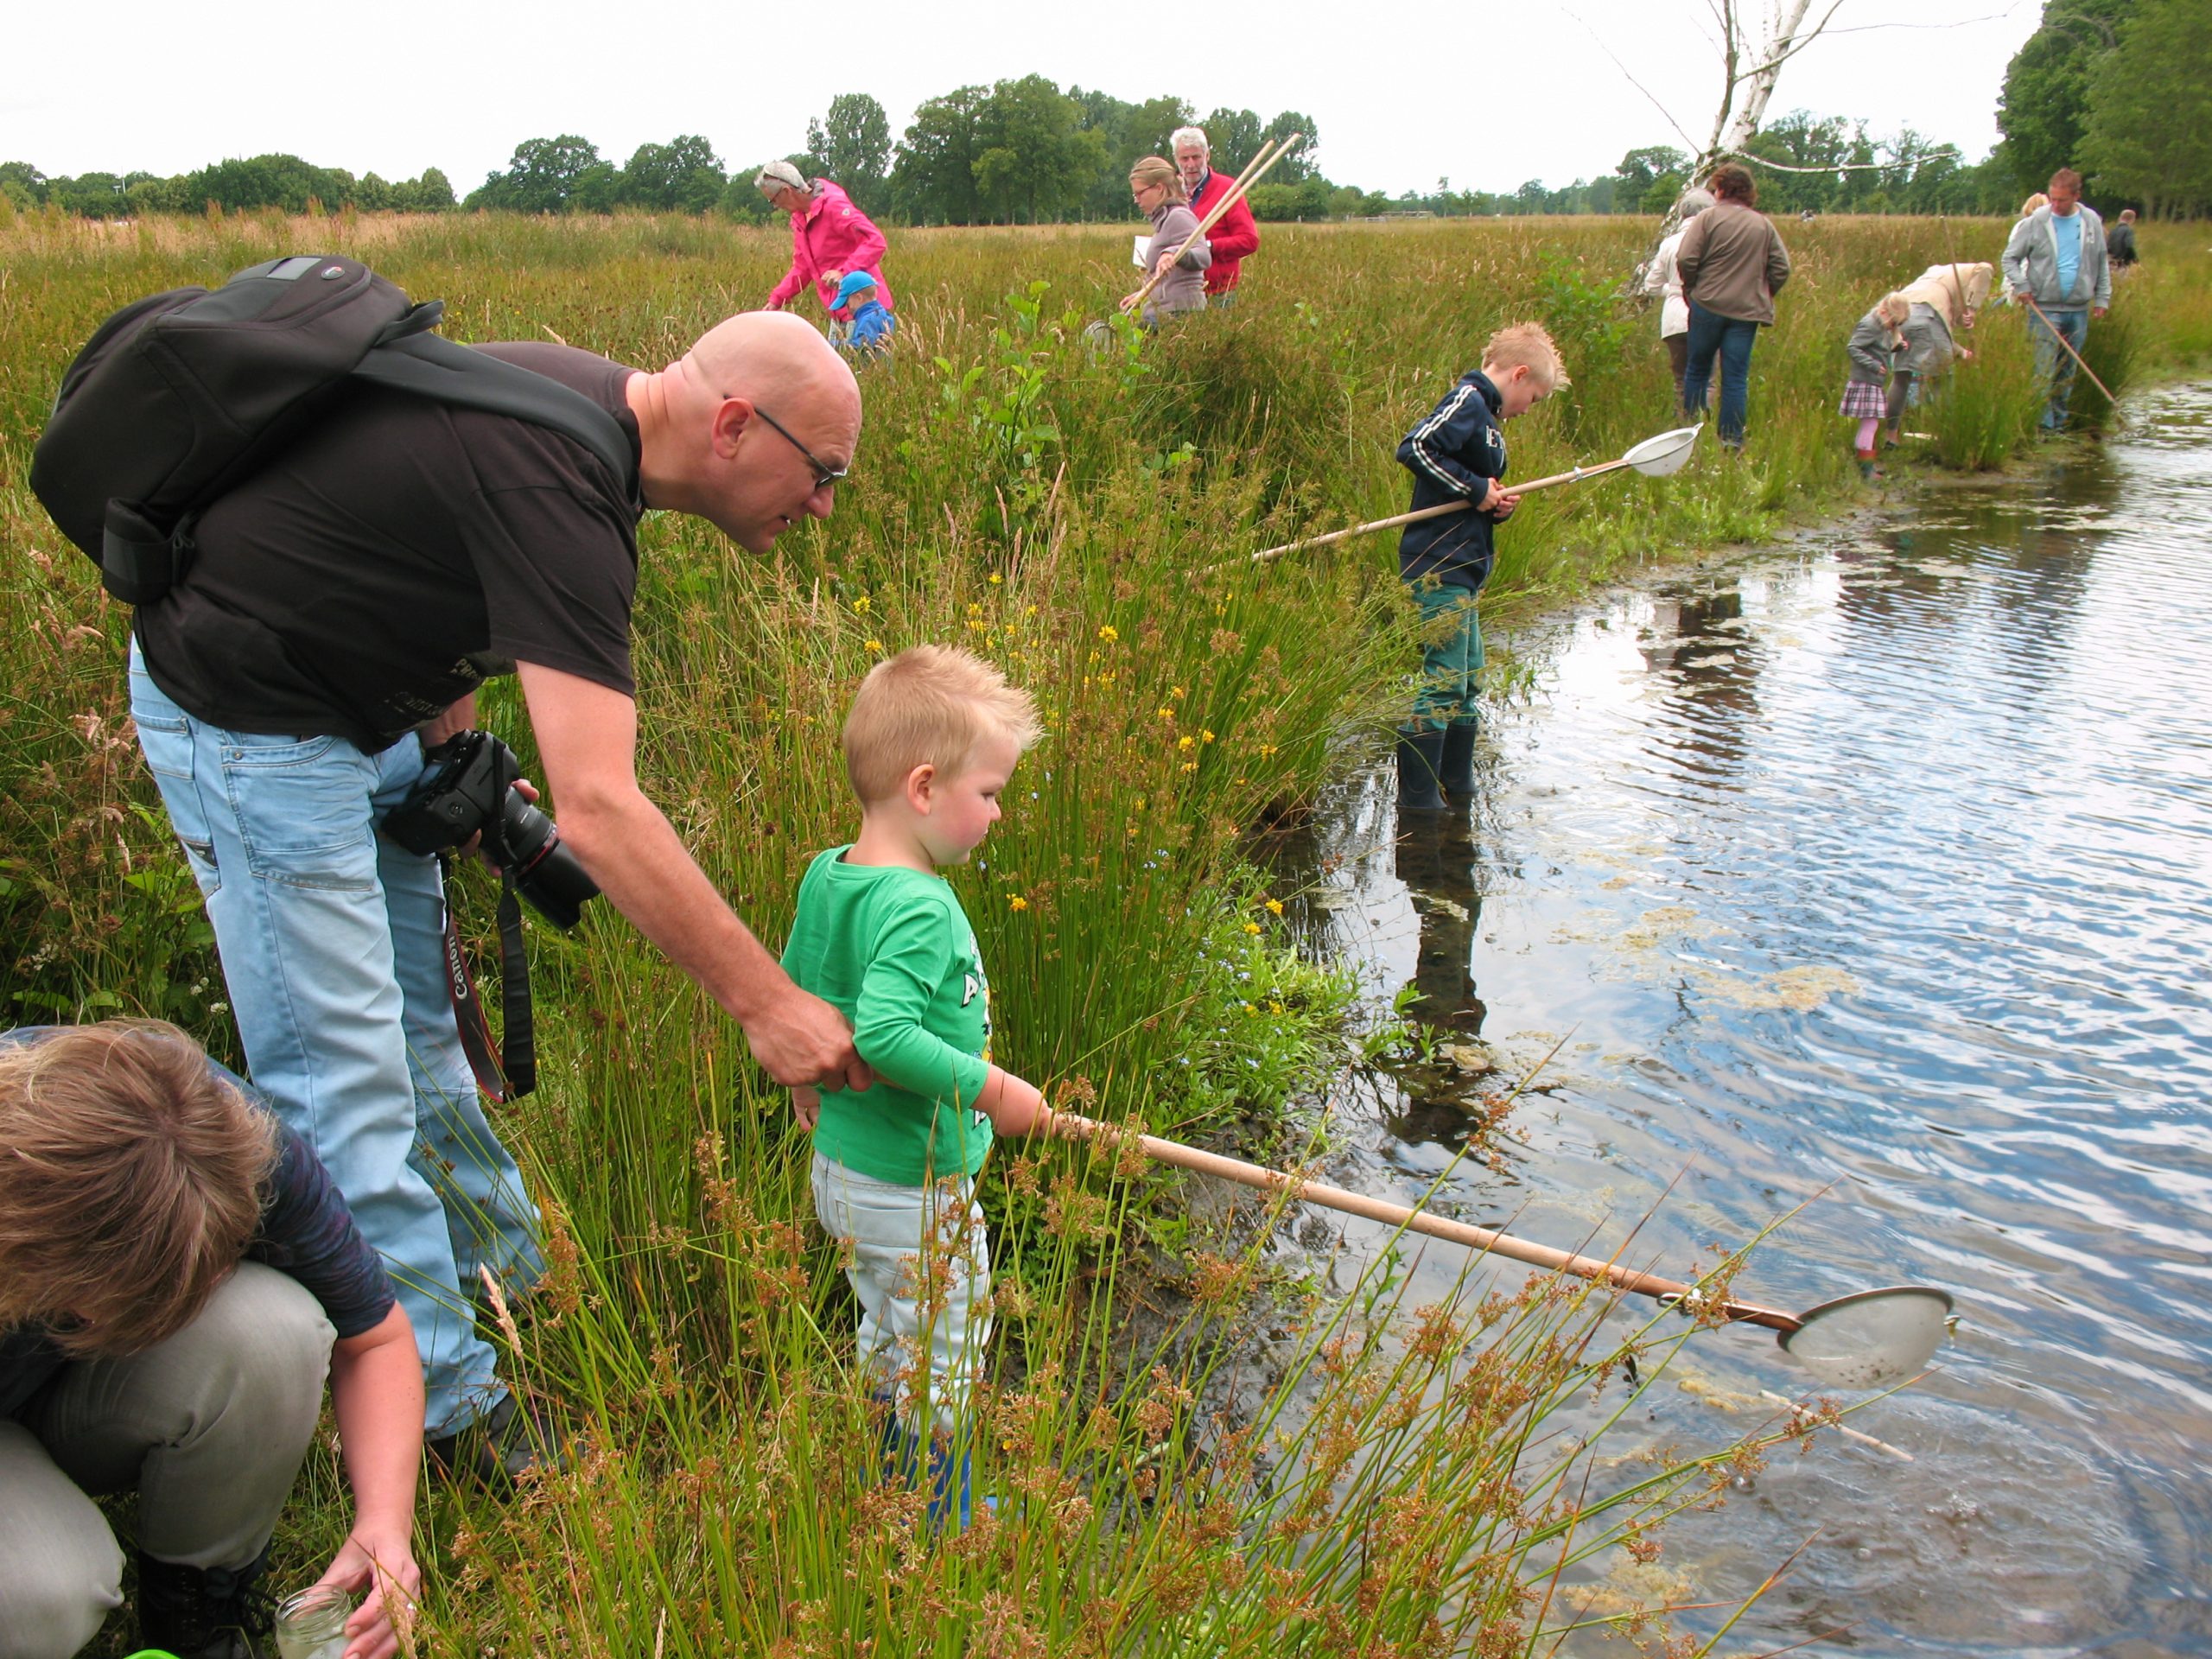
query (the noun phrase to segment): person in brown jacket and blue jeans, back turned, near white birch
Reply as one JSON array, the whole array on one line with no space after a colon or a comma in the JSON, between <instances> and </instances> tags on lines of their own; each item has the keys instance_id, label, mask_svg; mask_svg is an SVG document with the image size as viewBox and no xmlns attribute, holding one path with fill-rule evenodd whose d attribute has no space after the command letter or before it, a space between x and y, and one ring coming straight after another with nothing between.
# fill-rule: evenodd
<instances>
[{"instance_id":1,"label":"person in brown jacket and blue jeans, back turned, near white birch","mask_svg":"<svg viewBox=\"0 0 2212 1659\"><path fill-rule=\"evenodd\" d=\"M1752 201L1759 186L1750 168L1723 161L1705 179L1717 197L1690 221L1674 252L1674 272L1690 301L1690 361L1681 376L1681 405L1705 409L1712 358L1721 358L1721 442L1743 447L1743 414L1752 396L1752 343L1774 321L1774 294L1790 281L1790 250L1774 223Z\"/></svg>"}]
</instances>

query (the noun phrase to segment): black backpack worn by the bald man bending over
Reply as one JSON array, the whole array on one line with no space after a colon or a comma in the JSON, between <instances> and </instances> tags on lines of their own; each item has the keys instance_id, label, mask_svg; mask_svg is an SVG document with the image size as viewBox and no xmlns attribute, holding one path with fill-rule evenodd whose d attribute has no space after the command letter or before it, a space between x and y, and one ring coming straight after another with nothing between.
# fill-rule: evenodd
<instances>
[{"instance_id":1,"label":"black backpack worn by the bald man bending over","mask_svg":"<svg viewBox=\"0 0 2212 1659\"><path fill-rule=\"evenodd\" d=\"M411 305L367 265L290 257L221 288L124 305L62 376L31 451L31 491L124 604L168 593L192 524L356 380L566 434L637 489L606 409L531 369L431 334L445 301Z\"/></svg>"}]
</instances>

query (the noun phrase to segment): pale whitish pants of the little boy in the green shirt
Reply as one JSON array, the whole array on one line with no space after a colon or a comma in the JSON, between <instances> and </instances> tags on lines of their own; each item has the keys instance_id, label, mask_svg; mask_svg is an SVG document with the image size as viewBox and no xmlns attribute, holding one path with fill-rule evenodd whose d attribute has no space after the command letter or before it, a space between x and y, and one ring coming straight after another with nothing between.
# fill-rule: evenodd
<instances>
[{"instance_id":1,"label":"pale whitish pants of the little boy in the green shirt","mask_svg":"<svg viewBox=\"0 0 2212 1659\"><path fill-rule=\"evenodd\" d=\"M814 1214L852 1259L860 1365L902 1422L951 1433L991 1340L991 1254L975 1181L898 1186L814 1155Z\"/></svg>"}]
</instances>

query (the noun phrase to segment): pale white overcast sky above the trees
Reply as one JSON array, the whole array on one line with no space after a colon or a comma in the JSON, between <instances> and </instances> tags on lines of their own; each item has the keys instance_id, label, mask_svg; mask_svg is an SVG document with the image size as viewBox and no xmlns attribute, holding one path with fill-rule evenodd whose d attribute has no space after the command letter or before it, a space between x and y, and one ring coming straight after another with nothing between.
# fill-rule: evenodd
<instances>
[{"instance_id":1,"label":"pale white overcast sky above the trees","mask_svg":"<svg viewBox=\"0 0 2212 1659\"><path fill-rule=\"evenodd\" d=\"M1772 0L1743 0L1763 15ZM1825 4L1825 0L1823 0ZM1772 115L1913 126L1980 159L2004 64L2039 0L1843 0ZM757 4L675 0L215 11L24 4L0 84L0 159L46 175L188 173L290 150L349 173L442 168L460 195L515 144L582 133L613 161L703 133L734 170L805 142L836 93L872 93L894 137L969 82L1042 73L1203 115L1294 108L1338 184L1511 190L1610 173L1641 144L1697 139L1719 102L1703 0L1577 4ZM1608 55L1610 53L1610 55ZM1617 60L1617 62L1615 62ZM1624 69L1626 66L1626 69Z\"/></svg>"}]
</instances>

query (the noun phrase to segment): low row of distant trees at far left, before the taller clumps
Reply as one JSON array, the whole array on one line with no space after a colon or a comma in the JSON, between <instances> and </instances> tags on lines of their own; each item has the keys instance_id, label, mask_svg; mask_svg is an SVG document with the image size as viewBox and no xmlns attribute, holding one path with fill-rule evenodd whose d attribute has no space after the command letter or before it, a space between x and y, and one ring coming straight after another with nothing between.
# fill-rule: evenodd
<instances>
[{"instance_id":1,"label":"low row of distant trees at far left, before the taller clumps","mask_svg":"<svg viewBox=\"0 0 2212 1659\"><path fill-rule=\"evenodd\" d=\"M80 219L131 219L142 212L246 212L281 208L358 208L361 212L451 212L453 186L438 168L387 184L374 173L358 179L345 168L319 168L296 155L250 155L217 161L199 173L80 173L49 179L29 161L0 161L0 199L18 212L58 208Z\"/></svg>"}]
</instances>

